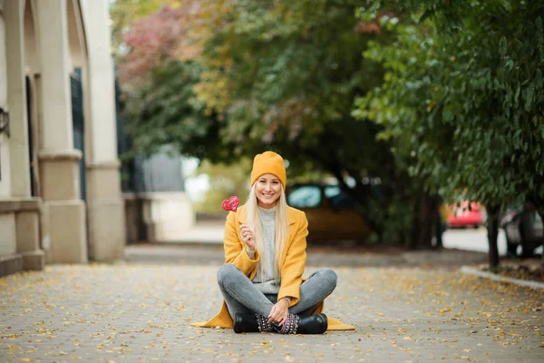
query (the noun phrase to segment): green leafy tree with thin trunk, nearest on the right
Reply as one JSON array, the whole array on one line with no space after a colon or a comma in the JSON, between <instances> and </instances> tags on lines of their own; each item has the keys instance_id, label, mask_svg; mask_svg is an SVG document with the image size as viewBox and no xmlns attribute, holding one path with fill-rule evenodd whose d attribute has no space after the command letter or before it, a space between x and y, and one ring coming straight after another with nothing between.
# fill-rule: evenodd
<instances>
[{"instance_id":1,"label":"green leafy tree with thin trunk, nearest on the right","mask_svg":"<svg viewBox=\"0 0 544 363\"><path fill-rule=\"evenodd\" d=\"M544 5L411 3L403 22L382 17L397 37L364 55L384 65L384 84L355 114L384 126L379 137L430 190L486 205L494 267L500 210L526 198L542 206Z\"/></svg>"}]
</instances>

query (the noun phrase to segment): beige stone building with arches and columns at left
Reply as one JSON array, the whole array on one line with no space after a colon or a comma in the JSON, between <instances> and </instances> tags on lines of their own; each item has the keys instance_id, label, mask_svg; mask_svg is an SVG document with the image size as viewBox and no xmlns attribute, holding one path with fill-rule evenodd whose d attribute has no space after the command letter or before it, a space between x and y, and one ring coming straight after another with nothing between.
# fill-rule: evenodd
<instances>
[{"instance_id":1,"label":"beige stone building with arches and columns at left","mask_svg":"<svg viewBox=\"0 0 544 363\"><path fill-rule=\"evenodd\" d=\"M108 0L0 0L0 276L125 244Z\"/></svg>"}]
</instances>

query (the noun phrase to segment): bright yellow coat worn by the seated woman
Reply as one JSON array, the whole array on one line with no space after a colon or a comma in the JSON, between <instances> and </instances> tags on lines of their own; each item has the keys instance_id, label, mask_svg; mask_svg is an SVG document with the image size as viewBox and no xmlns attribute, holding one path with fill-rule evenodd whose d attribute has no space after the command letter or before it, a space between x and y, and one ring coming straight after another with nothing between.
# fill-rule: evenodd
<instances>
[{"instance_id":1,"label":"bright yellow coat worn by the seated woman","mask_svg":"<svg viewBox=\"0 0 544 363\"><path fill-rule=\"evenodd\" d=\"M287 219L289 221L289 237L281 257L281 285L277 293L277 299L291 297L289 306L295 305L300 298L300 285L302 274L306 265L306 236L308 235L308 221L303 211L287 207ZM244 272L250 280L257 274L257 261L260 256L255 253L255 260L251 260L246 251L246 243L239 237L239 225L247 221L246 206L238 211L230 211L225 224L225 263L232 263ZM322 302L312 315L323 312ZM192 327L199 328L232 328L233 322L228 314L227 304L223 301L221 310L215 318L207 322L195 322ZM344 324L342 321L328 318L328 330L355 330L355 327Z\"/></svg>"}]
</instances>

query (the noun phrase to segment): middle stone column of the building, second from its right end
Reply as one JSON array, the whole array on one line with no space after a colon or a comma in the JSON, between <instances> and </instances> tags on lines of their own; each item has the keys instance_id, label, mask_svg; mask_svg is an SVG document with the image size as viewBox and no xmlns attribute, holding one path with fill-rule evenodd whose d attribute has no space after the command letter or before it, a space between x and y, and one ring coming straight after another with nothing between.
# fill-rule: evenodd
<instances>
[{"instance_id":1,"label":"middle stone column of the building, second from its right end","mask_svg":"<svg viewBox=\"0 0 544 363\"><path fill-rule=\"evenodd\" d=\"M87 261L85 203L79 161L73 147L73 72L67 0L37 1L40 24L40 192L51 240L48 261Z\"/></svg>"}]
</instances>

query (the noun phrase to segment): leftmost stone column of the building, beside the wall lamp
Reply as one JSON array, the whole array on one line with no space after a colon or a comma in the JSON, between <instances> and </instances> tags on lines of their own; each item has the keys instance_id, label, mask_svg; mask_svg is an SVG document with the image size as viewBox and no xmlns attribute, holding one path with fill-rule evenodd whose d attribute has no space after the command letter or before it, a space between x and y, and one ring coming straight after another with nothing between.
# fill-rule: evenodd
<instances>
[{"instance_id":1,"label":"leftmost stone column of the building, beside the wall lamp","mask_svg":"<svg viewBox=\"0 0 544 363\"><path fill-rule=\"evenodd\" d=\"M16 253L21 256L24 270L41 270L44 251L40 249L41 201L31 194L29 164L28 99L25 74L28 49L35 44L25 38L25 14L32 15L30 0L5 2L5 54L7 104L10 113L9 178L11 193L8 202L0 206L3 218L15 221Z\"/></svg>"}]
</instances>

